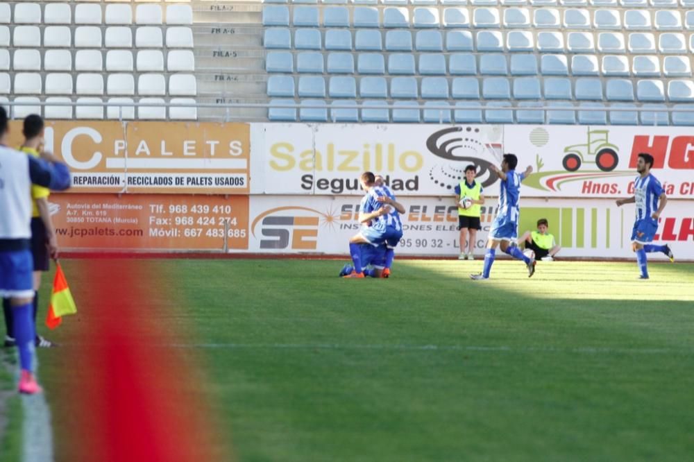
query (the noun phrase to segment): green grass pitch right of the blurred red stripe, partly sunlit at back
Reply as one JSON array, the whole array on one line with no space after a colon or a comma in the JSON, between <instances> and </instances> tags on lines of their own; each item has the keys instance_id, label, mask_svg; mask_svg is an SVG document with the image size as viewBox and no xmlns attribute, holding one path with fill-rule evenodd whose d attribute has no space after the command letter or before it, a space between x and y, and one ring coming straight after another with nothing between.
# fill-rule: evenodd
<instances>
[{"instance_id":1,"label":"green grass pitch right of the blurred red stripe, partly sunlit at back","mask_svg":"<svg viewBox=\"0 0 694 462\"><path fill-rule=\"evenodd\" d=\"M636 262L541 262L528 279L498 261L475 282L481 261L396 259L389 280L340 279L337 261L138 262L164 275L142 284L176 300L161 322L191 332L176 348L202 354L199 392L239 461L694 454L692 264L641 281ZM88 276L63 266L78 299ZM69 343L70 323L51 338ZM65 377L44 371L49 391Z\"/></svg>"}]
</instances>

